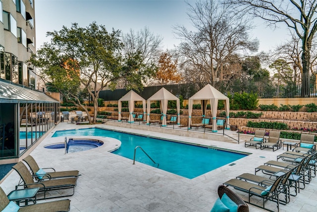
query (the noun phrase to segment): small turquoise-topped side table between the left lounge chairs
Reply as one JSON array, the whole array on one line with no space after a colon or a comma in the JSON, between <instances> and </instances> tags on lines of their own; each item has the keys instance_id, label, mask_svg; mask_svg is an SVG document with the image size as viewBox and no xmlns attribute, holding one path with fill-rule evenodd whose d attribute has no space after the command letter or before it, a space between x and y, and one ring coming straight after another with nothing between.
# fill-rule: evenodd
<instances>
[{"instance_id":1,"label":"small turquoise-topped side table between the left lounge chairs","mask_svg":"<svg viewBox=\"0 0 317 212\"><path fill-rule=\"evenodd\" d=\"M25 201L25 205L27 206L29 200L32 201L33 204L36 203L36 193L39 191L39 189L40 188L13 190L7 196L10 201L16 202L18 206L22 201Z\"/></svg>"}]
</instances>

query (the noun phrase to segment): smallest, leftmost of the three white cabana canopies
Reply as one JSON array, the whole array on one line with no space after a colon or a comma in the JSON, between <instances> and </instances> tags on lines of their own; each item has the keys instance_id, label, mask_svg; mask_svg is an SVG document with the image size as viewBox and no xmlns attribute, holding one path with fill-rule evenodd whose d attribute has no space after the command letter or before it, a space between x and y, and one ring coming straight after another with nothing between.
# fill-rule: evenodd
<instances>
[{"instance_id":1,"label":"smallest, leftmost of the three white cabana canopies","mask_svg":"<svg viewBox=\"0 0 317 212\"><path fill-rule=\"evenodd\" d=\"M133 119L133 112L134 112L134 102L135 101L142 101L143 104L143 119L145 121L145 110L146 110L146 101L144 98L142 98L142 96L140 96L139 94L137 94L135 91L130 90L129 92L127 92L124 96L122 96L119 100L118 100L118 121L121 121L121 102L122 101L128 101L128 108L129 108L129 123L134 123L134 119Z\"/></svg>"}]
</instances>

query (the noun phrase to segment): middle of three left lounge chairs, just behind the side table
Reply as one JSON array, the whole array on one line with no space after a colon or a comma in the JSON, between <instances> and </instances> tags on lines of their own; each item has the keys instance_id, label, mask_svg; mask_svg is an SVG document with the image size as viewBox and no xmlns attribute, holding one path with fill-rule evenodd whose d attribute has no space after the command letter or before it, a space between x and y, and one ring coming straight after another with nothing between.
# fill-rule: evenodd
<instances>
[{"instance_id":1,"label":"middle of three left lounge chairs, just behind the side table","mask_svg":"<svg viewBox=\"0 0 317 212\"><path fill-rule=\"evenodd\" d=\"M43 199L51 199L57 197L69 197L72 196L75 192L76 180L77 178L60 178L60 179L49 179L43 180L40 182L34 182L33 177L28 170L28 168L24 165L22 161L18 162L12 167L21 177L22 181L20 181L20 185L23 185L25 188L40 188L40 191L44 192ZM72 189L72 194L66 194L63 196L53 196L53 197L46 197L47 191L53 190L61 190L61 189Z\"/></svg>"}]
</instances>

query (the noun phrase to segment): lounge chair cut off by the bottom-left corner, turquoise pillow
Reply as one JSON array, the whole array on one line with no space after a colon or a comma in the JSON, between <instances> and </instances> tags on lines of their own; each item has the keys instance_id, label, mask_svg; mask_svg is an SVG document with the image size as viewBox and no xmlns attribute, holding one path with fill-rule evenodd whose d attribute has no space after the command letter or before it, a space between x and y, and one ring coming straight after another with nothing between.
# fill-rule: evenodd
<instances>
[{"instance_id":1,"label":"lounge chair cut off by the bottom-left corner, turquoise pillow","mask_svg":"<svg viewBox=\"0 0 317 212\"><path fill-rule=\"evenodd\" d=\"M36 203L34 205L28 205L19 207L14 202L10 202L6 194L0 187L0 211L5 211L5 207L14 207L19 212L68 212L70 206L70 200L57 200L46 203ZM11 208L12 209L12 208Z\"/></svg>"}]
</instances>

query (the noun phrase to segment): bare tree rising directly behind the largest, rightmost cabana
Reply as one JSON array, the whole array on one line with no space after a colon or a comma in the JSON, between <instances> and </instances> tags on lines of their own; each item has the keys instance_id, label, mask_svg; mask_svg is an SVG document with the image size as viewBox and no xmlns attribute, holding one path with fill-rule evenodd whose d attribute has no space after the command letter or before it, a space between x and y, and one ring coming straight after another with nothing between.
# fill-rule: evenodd
<instances>
[{"instance_id":1,"label":"bare tree rising directly behind the largest, rightmost cabana","mask_svg":"<svg viewBox=\"0 0 317 212\"><path fill-rule=\"evenodd\" d=\"M237 19L214 0L187 2L188 17L195 31L183 25L173 27L174 33L182 40L179 52L187 67L203 71L208 82L222 79L233 55L244 55L257 51L258 41L252 40L248 32L250 21ZM235 67L236 68L236 67Z\"/></svg>"}]
</instances>

